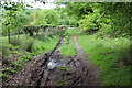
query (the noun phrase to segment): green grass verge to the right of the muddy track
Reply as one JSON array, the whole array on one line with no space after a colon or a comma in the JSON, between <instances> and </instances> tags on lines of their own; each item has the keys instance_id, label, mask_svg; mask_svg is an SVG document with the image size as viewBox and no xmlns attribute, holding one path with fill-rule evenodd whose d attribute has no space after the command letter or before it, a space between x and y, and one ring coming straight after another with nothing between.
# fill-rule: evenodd
<instances>
[{"instance_id":1,"label":"green grass verge to the right of the muddy track","mask_svg":"<svg viewBox=\"0 0 132 88\"><path fill-rule=\"evenodd\" d=\"M102 86L130 85L130 66L124 62L130 59L129 40L101 40L96 38L96 35L79 35L78 43L88 53L88 59L99 67Z\"/></svg>"}]
</instances>

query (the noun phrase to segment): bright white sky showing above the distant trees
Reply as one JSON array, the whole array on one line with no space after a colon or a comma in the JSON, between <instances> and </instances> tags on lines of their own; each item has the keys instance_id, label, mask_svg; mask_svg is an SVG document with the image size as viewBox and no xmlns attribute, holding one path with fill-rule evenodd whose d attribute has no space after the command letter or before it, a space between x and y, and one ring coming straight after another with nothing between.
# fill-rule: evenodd
<instances>
[{"instance_id":1,"label":"bright white sky showing above the distant trees","mask_svg":"<svg viewBox=\"0 0 132 88\"><path fill-rule=\"evenodd\" d=\"M12 0L12 1L18 1L18 0ZM34 1L34 0L24 0L24 2L26 2L28 4L32 6L32 9L54 9L56 7L56 4L52 3L54 0L47 0L48 3L44 4L41 3L38 1Z\"/></svg>"}]
</instances>

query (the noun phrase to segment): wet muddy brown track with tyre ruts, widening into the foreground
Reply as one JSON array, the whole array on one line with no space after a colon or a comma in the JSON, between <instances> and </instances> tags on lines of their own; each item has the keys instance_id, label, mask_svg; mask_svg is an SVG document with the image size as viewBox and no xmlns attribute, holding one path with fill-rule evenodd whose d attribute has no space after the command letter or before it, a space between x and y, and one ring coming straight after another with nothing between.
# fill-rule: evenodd
<instances>
[{"instance_id":1,"label":"wet muddy brown track with tyre ruts, widening into the foreground","mask_svg":"<svg viewBox=\"0 0 132 88\"><path fill-rule=\"evenodd\" d=\"M61 55L56 45L56 50L25 64L23 69L3 82L3 86L98 86L97 67L87 62L87 54L77 44L77 36L73 36L73 41L76 56ZM57 44L59 43L61 41ZM51 67L51 63L54 66Z\"/></svg>"}]
</instances>

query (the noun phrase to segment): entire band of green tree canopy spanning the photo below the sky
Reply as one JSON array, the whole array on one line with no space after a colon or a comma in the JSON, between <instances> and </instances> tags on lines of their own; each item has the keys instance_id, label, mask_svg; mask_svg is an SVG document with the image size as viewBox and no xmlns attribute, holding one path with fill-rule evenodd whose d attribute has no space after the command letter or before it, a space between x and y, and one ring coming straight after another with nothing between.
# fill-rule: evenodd
<instances>
[{"instance_id":1,"label":"entire band of green tree canopy spanning the photo below the sky","mask_svg":"<svg viewBox=\"0 0 132 88\"><path fill-rule=\"evenodd\" d=\"M99 36L132 36L131 2L57 2L50 10L23 10L22 2L6 2L3 7L3 32L21 25L73 25ZM24 11L24 12L21 12ZM26 22L26 23L25 23ZM25 24L24 24L25 23Z\"/></svg>"}]
</instances>

